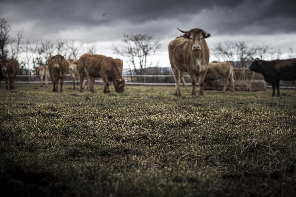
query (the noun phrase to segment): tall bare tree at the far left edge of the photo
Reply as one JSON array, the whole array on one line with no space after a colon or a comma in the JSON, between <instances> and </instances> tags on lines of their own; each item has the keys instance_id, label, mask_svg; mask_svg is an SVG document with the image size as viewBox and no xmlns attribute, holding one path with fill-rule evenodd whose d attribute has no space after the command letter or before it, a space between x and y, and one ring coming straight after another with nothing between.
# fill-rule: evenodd
<instances>
[{"instance_id":1,"label":"tall bare tree at the far left edge of the photo","mask_svg":"<svg viewBox=\"0 0 296 197\"><path fill-rule=\"evenodd\" d=\"M7 59L8 51L7 51L7 43L9 41L9 33L10 25L8 25L6 18L0 18L0 59Z\"/></svg>"}]
</instances>

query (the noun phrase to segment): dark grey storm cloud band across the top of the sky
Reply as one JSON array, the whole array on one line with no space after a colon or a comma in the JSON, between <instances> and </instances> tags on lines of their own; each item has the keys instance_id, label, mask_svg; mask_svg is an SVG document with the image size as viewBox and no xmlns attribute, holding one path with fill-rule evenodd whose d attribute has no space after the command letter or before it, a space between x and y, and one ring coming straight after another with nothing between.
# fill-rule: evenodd
<instances>
[{"instance_id":1,"label":"dark grey storm cloud band across the top of the sky","mask_svg":"<svg viewBox=\"0 0 296 197\"><path fill-rule=\"evenodd\" d=\"M68 29L110 28L124 32L176 32L176 27L203 28L214 34L272 34L296 31L295 1L0 1L0 17L12 26L31 25L30 35L54 34ZM103 17L103 13L108 14ZM32 23L30 23L32 22ZM145 23L151 26L144 26ZM138 29L136 27L139 27ZM170 28L169 28L169 27ZM126 28L126 29L125 29ZM25 30L25 31L26 31ZM109 32L104 38L118 36Z\"/></svg>"}]
</instances>

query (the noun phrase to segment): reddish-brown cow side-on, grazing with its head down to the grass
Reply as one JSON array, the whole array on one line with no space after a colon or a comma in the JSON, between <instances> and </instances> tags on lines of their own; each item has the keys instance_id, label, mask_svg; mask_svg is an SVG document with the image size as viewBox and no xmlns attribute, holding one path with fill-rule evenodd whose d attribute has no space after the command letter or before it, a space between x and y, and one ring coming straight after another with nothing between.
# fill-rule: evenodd
<instances>
[{"instance_id":1,"label":"reddish-brown cow side-on, grazing with its head down to the grass","mask_svg":"<svg viewBox=\"0 0 296 197\"><path fill-rule=\"evenodd\" d=\"M124 91L124 79L120 67L112 57L96 54L84 54L78 60L78 72L80 75L80 91L83 91L84 76L87 77L89 89L94 92L94 79L101 77L104 81L104 93L110 93L109 81L113 82L115 91Z\"/></svg>"}]
</instances>

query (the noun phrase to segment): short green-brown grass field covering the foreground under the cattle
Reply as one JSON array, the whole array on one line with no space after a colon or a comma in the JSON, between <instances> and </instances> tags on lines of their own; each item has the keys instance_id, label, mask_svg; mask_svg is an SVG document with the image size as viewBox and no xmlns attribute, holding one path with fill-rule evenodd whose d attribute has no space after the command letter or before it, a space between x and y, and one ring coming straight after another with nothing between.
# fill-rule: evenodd
<instances>
[{"instance_id":1,"label":"short green-brown grass field covering the foreground under the cattle","mask_svg":"<svg viewBox=\"0 0 296 197\"><path fill-rule=\"evenodd\" d=\"M71 87L0 87L0 196L295 196L295 90Z\"/></svg>"}]
</instances>

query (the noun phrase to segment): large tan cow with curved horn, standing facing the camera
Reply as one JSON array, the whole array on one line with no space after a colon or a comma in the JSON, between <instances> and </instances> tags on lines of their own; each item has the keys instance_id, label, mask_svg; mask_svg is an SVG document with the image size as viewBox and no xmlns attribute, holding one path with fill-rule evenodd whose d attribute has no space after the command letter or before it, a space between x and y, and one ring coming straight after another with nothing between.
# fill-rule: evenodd
<instances>
[{"instance_id":1,"label":"large tan cow with curved horn, standing facing the camera","mask_svg":"<svg viewBox=\"0 0 296 197\"><path fill-rule=\"evenodd\" d=\"M203 95L203 83L210 59L210 50L207 47L205 38L210 37L210 34L200 28L189 31L177 29L182 33L189 34L189 39L181 36L168 45L170 65L176 82L175 95L181 96L180 72L188 72L192 81L192 95L196 95L195 85L196 77L198 77L200 95Z\"/></svg>"}]
</instances>

